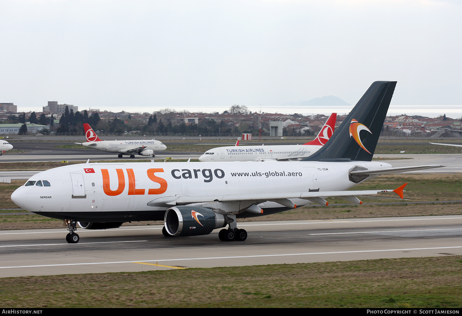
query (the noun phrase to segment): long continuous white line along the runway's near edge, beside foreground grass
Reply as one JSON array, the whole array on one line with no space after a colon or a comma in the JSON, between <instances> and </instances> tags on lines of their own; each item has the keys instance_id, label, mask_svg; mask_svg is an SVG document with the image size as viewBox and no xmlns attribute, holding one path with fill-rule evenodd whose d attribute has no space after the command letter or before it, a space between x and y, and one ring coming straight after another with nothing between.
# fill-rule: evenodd
<instances>
[{"instance_id":1,"label":"long continuous white line along the runway's near edge, beside foreground grass","mask_svg":"<svg viewBox=\"0 0 462 316\"><path fill-rule=\"evenodd\" d=\"M213 260L213 259L240 259L240 258L261 258L261 257L283 257L292 255L336 255L336 254L353 254L366 252L385 252L385 251L407 251L407 250L432 250L432 249L456 249L462 246L454 247L429 247L429 248L404 248L404 249L380 249L380 250L352 250L352 251L329 251L329 252L306 252L297 254L278 254L278 255L235 255L227 257L201 257L201 258L178 258L178 259L156 259L156 260L136 260L136 261L107 261L107 262L84 262L84 263L61 263L61 264L41 264L32 266L11 266L0 267L0 269L21 268L21 267L62 267L62 266L85 266L95 264L116 264L116 263L138 263L138 262L159 262L159 261L185 261L185 260Z\"/></svg>"}]
</instances>

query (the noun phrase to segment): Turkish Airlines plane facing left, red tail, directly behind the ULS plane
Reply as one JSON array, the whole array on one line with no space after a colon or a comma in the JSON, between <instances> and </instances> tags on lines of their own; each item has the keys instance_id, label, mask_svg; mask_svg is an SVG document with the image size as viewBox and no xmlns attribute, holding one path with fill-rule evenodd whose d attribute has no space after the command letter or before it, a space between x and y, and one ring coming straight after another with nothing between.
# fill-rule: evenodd
<instances>
[{"instance_id":1,"label":"Turkish Airlines plane facing left, red tail, directly behind the ULS plane","mask_svg":"<svg viewBox=\"0 0 462 316\"><path fill-rule=\"evenodd\" d=\"M302 145L279 146L225 146L204 152L199 161L278 161L300 159L317 152L334 134L337 113L332 113L316 138Z\"/></svg>"}]
</instances>

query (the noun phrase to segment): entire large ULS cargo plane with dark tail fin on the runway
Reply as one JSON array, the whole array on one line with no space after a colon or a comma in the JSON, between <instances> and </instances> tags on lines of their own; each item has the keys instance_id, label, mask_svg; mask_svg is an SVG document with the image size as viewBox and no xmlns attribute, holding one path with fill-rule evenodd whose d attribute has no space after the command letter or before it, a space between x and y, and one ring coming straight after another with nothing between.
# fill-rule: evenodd
<instances>
[{"instance_id":1,"label":"entire large ULS cargo plane with dark tail fin on the runway","mask_svg":"<svg viewBox=\"0 0 462 316\"><path fill-rule=\"evenodd\" d=\"M24 209L63 219L66 240L86 229L116 228L128 221L164 220L164 236L205 235L245 240L237 218L280 213L335 196L361 204L355 195L403 188L346 191L367 179L439 165L392 168L372 155L396 82L377 81L319 151L301 161L89 163L46 170L11 195Z\"/></svg>"}]
</instances>

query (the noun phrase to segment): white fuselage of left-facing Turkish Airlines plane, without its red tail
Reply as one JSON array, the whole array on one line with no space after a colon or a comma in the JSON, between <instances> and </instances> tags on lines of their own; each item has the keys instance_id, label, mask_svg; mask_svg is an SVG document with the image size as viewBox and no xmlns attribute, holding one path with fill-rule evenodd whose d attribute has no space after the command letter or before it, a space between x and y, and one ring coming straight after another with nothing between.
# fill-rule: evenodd
<instances>
[{"instance_id":1,"label":"white fuselage of left-facing Turkish Airlines plane, without its red tail","mask_svg":"<svg viewBox=\"0 0 462 316\"><path fill-rule=\"evenodd\" d=\"M291 157L308 157L322 146L316 145L278 145L278 146L226 146L207 150L200 161L257 161Z\"/></svg>"}]
</instances>

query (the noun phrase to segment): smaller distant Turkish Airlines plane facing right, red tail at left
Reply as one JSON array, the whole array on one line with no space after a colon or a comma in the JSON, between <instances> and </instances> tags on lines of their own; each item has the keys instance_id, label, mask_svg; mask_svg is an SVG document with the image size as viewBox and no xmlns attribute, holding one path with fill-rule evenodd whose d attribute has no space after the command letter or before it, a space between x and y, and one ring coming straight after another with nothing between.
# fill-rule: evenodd
<instances>
[{"instance_id":1,"label":"smaller distant Turkish Airlines plane facing right, red tail at left","mask_svg":"<svg viewBox=\"0 0 462 316\"><path fill-rule=\"evenodd\" d=\"M119 154L119 158L122 158L123 155L130 155L130 158L135 158L135 153L141 156L156 157L155 152L167 149L167 146L158 140L100 140L89 124L84 123L84 128L87 142L74 144L102 152L116 152Z\"/></svg>"}]
</instances>

